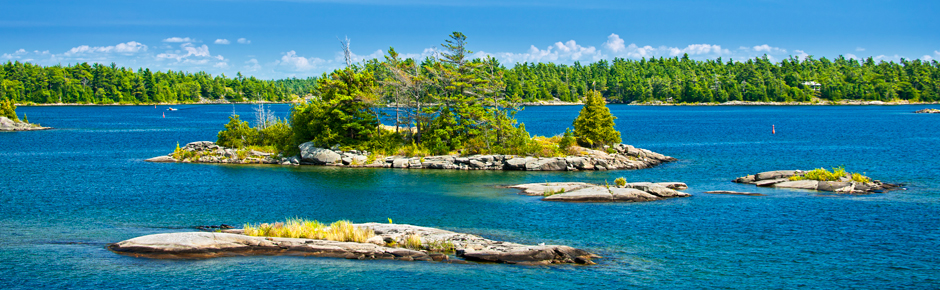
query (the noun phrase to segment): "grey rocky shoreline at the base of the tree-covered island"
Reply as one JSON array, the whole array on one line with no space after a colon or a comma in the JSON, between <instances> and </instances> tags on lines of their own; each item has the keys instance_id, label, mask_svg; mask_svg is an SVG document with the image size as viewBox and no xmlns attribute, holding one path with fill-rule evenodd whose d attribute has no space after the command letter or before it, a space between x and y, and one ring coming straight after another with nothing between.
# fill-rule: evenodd
<instances>
[{"instance_id":1,"label":"grey rocky shoreline at the base of the tree-covered island","mask_svg":"<svg viewBox=\"0 0 940 290\"><path fill-rule=\"evenodd\" d=\"M232 163L232 164L281 164L281 165L327 165L345 167L378 167L402 169L457 169L457 170L525 170L525 171L581 171L643 169L665 162L676 161L646 149L626 144L612 147L607 153L587 148L577 148L581 155L567 157L524 157L516 155L472 155L472 156L427 156L378 157L370 152L315 147L313 143L300 146L300 156L274 156L254 150L237 150L218 146L210 141L186 144L180 148L185 157L174 157L173 153L147 159L148 162L183 163ZM180 158L180 160L177 160Z\"/></svg>"}]
</instances>

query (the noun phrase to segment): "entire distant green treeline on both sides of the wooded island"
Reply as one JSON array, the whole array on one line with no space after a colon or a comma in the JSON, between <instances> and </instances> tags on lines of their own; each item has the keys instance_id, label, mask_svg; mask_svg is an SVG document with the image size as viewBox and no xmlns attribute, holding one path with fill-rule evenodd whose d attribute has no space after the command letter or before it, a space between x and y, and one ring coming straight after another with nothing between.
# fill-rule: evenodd
<instances>
[{"instance_id":1,"label":"entire distant green treeline on both sides of the wooded island","mask_svg":"<svg viewBox=\"0 0 940 290\"><path fill-rule=\"evenodd\" d=\"M412 61L415 60L406 60ZM361 68L372 71L377 84L387 83L383 60ZM417 72L426 75L431 58ZM746 61L673 58L616 58L588 65L522 63L499 65L505 94L523 101L578 101L596 90L609 102L664 101L709 103L727 101L811 102L821 100L940 101L940 65L936 60L875 62L838 57L797 57L774 63L765 57ZM241 73L235 78L204 72L151 72L87 63L42 67L7 62L0 70L0 99L17 103L151 103L198 101L288 101L319 95L315 77L258 80Z\"/></svg>"}]
</instances>

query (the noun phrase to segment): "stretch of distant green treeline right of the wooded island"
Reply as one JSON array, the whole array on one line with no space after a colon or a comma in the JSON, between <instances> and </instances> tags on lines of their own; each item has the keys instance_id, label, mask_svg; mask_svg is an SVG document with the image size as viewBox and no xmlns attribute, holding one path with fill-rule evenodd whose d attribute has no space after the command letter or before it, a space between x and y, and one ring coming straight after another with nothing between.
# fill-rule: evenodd
<instances>
[{"instance_id":1,"label":"stretch of distant green treeline right of the wooded island","mask_svg":"<svg viewBox=\"0 0 940 290\"><path fill-rule=\"evenodd\" d=\"M525 100L574 101L591 89L610 102L727 101L793 102L824 100L940 100L936 60L900 63L765 57L743 62L690 60L688 55L641 60L600 60L583 66L523 63L506 73L508 94Z\"/></svg>"}]
</instances>

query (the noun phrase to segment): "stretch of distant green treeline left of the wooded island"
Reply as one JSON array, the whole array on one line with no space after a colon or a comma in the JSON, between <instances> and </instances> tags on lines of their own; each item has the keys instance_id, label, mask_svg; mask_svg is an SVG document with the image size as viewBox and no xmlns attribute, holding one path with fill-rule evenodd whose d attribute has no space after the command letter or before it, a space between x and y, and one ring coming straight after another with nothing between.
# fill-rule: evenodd
<instances>
[{"instance_id":1,"label":"stretch of distant green treeline left of the wooded island","mask_svg":"<svg viewBox=\"0 0 940 290\"><path fill-rule=\"evenodd\" d=\"M150 71L102 64L0 67L0 100L17 103L138 104L200 101L288 101L310 92L315 80L278 81L205 72Z\"/></svg>"}]
</instances>

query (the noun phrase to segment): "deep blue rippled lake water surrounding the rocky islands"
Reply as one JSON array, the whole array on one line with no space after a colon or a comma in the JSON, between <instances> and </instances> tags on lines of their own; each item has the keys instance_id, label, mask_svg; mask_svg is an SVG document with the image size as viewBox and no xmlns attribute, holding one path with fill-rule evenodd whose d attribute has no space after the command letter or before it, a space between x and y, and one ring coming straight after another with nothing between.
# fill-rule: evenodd
<instances>
[{"instance_id":1,"label":"deep blue rippled lake water surrounding the rocky islands","mask_svg":"<svg viewBox=\"0 0 940 290\"><path fill-rule=\"evenodd\" d=\"M20 107L57 129L0 134L0 288L937 288L940 115L925 106L611 105L624 143L678 158L612 172L465 172L155 164L215 140L231 105ZM284 114L286 105L274 106ZM580 107L530 107L555 135ZM243 116L251 107L235 106ZM166 113L166 118L161 114ZM771 126L776 134L771 134ZM844 165L908 190L865 196L730 182ZM552 203L525 182L683 181L693 196ZM703 194L739 190L763 197ZM596 252L596 266L526 267L238 257L150 260L108 243L285 217L441 227Z\"/></svg>"}]
</instances>

